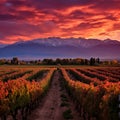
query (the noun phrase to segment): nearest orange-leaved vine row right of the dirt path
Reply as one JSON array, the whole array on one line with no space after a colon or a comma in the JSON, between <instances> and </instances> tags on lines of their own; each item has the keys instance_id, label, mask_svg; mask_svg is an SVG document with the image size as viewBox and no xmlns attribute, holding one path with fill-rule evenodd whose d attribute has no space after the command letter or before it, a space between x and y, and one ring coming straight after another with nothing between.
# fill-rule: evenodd
<instances>
[{"instance_id":1,"label":"nearest orange-leaved vine row right of the dirt path","mask_svg":"<svg viewBox=\"0 0 120 120\"><path fill-rule=\"evenodd\" d=\"M67 91L76 103L80 115L88 120L118 120L120 81L109 82L109 78L107 78L107 80L101 82L98 78L90 79L90 77L75 69L73 71L76 72L73 76L78 74L82 79L70 78L68 70L61 68ZM89 82L84 82L84 79L89 80ZM97 82L97 85L94 84L95 82Z\"/></svg>"}]
</instances>

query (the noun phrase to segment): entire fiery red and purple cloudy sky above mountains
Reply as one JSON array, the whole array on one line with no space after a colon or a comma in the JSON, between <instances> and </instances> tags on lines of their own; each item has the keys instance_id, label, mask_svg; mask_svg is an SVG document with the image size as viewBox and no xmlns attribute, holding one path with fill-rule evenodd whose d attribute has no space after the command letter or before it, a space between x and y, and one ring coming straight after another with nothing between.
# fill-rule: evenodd
<instances>
[{"instance_id":1,"label":"entire fiery red and purple cloudy sky above mountains","mask_svg":"<svg viewBox=\"0 0 120 120\"><path fill-rule=\"evenodd\" d=\"M0 42L55 36L120 40L120 0L0 0Z\"/></svg>"}]
</instances>

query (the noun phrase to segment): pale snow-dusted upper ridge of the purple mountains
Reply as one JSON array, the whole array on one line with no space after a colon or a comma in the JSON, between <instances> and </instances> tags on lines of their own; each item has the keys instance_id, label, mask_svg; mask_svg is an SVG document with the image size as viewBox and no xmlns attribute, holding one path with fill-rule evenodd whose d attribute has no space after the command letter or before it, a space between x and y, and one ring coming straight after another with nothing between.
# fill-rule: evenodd
<instances>
[{"instance_id":1,"label":"pale snow-dusted upper ridge of the purple mountains","mask_svg":"<svg viewBox=\"0 0 120 120\"><path fill-rule=\"evenodd\" d=\"M29 42L50 45L50 46L69 45L69 46L75 46L75 47L81 46L85 48L100 45L100 44L120 44L119 41L110 40L110 39L101 41L98 39L59 38L59 37L34 39L34 40L27 41L26 43L29 43Z\"/></svg>"}]
</instances>

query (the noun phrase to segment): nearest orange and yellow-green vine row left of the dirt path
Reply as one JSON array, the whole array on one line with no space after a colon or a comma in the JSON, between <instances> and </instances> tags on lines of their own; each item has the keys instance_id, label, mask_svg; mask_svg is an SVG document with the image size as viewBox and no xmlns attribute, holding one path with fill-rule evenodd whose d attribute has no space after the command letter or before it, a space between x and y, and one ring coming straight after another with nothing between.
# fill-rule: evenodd
<instances>
[{"instance_id":1,"label":"nearest orange and yellow-green vine row left of the dirt path","mask_svg":"<svg viewBox=\"0 0 120 120\"><path fill-rule=\"evenodd\" d=\"M8 115L16 119L18 111L21 111L22 119L25 119L27 114L39 104L41 97L48 89L54 70L54 68L50 69L39 82L27 81L23 78L7 82L0 81L1 119L6 119Z\"/></svg>"}]
</instances>

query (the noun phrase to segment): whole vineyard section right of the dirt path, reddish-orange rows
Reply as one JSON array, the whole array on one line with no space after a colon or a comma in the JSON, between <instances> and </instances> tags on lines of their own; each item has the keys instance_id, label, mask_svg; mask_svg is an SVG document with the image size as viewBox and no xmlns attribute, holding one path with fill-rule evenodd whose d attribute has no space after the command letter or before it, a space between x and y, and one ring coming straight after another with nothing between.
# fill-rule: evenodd
<instances>
[{"instance_id":1,"label":"whole vineyard section right of the dirt path, reddish-orange rows","mask_svg":"<svg viewBox=\"0 0 120 120\"><path fill-rule=\"evenodd\" d=\"M61 72L85 120L119 119L120 68L61 68Z\"/></svg>"}]
</instances>

